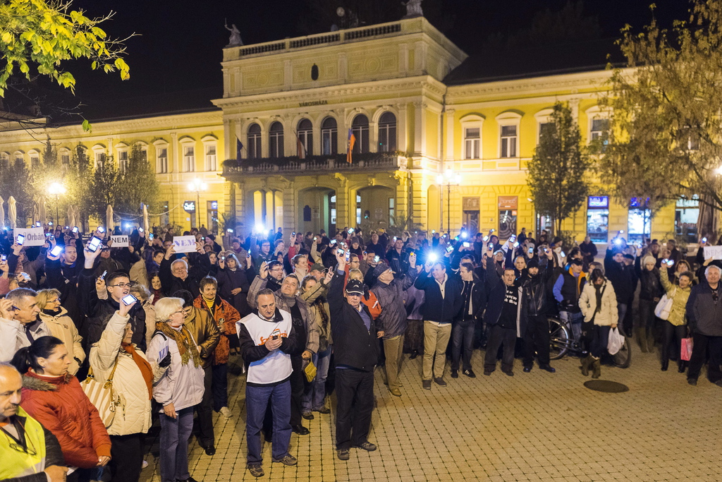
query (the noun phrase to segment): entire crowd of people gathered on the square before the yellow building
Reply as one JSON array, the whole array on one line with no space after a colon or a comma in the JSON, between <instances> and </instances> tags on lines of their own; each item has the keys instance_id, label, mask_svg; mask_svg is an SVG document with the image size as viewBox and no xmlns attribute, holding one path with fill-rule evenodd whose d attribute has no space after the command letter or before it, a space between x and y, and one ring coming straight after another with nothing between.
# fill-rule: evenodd
<instances>
[{"instance_id":1,"label":"entire crowd of people gathered on the square before the yellow building","mask_svg":"<svg viewBox=\"0 0 722 482\"><path fill-rule=\"evenodd\" d=\"M292 433L331 413L331 391L339 459L375 450L375 371L404 396L404 353L422 356L422 390L446 387L446 374L475 378L477 348L484 376L499 361L514 376L516 358L524 373L535 362L554 373L550 316L570 327L583 376L601 376L616 329L642 352L658 345L661 370L676 361L695 385L706 363L722 384L722 262L704 259L706 240L695 272L674 241L627 244L621 233L599 262L589 238L564 246L526 229L500 240L465 228L455 238L279 228L219 244L201 228L183 233L196 236L191 253L176 253L171 226L134 229L128 246L103 228L45 231L43 246L0 239L0 481L137 481L156 421L161 480L194 481L194 417L213 456L213 413L240 416L228 405L231 357L244 366L256 477L264 441L272 462L297 463Z\"/></svg>"}]
</instances>

